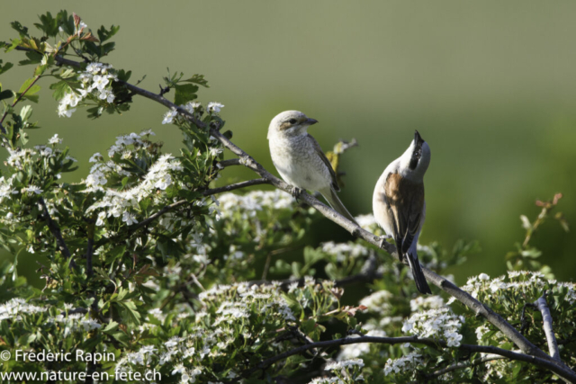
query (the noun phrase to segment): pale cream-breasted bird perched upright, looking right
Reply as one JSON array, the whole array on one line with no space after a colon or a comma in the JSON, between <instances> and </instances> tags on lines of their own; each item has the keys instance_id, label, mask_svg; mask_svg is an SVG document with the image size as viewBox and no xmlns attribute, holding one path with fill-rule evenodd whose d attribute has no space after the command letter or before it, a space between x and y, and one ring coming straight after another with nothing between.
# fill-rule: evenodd
<instances>
[{"instance_id":1,"label":"pale cream-breasted bird perched upright, looking right","mask_svg":"<svg viewBox=\"0 0 576 384\"><path fill-rule=\"evenodd\" d=\"M284 111L268 126L270 156L284 182L293 185L293 196L302 190L320 192L329 205L356 223L336 192L340 191L336 173L308 127L318 123L299 111Z\"/></svg>"}]
</instances>

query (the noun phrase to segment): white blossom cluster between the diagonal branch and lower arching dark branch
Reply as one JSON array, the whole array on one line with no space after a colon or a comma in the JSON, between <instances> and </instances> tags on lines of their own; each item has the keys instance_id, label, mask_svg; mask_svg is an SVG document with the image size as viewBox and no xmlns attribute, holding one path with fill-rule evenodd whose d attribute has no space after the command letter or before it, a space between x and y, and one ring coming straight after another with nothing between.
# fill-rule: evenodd
<instances>
[{"instance_id":1,"label":"white blossom cluster between the diagonal branch and lower arching dark branch","mask_svg":"<svg viewBox=\"0 0 576 384\"><path fill-rule=\"evenodd\" d=\"M463 337L459 334L463 323L464 317L456 316L450 308L429 309L412 314L404 321L402 332L410 332L419 337L445 339L447 346L457 347Z\"/></svg>"}]
</instances>

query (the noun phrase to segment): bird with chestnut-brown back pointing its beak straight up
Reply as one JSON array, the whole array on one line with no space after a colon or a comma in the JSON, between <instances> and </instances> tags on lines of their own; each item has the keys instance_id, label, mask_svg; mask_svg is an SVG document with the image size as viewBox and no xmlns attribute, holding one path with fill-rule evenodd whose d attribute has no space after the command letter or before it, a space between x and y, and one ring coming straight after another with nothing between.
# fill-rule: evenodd
<instances>
[{"instance_id":1,"label":"bird with chestnut-brown back pointing its beak straight up","mask_svg":"<svg viewBox=\"0 0 576 384\"><path fill-rule=\"evenodd\" d=\"M430 147L416 130L410 147L384 169L372 201L374 219L388 237L394 238L401 260L408 260L416 288L424 294L432 291L422 272L416 246L426 218L424 174L429 164Z\"/></svg>"}]
</instances>

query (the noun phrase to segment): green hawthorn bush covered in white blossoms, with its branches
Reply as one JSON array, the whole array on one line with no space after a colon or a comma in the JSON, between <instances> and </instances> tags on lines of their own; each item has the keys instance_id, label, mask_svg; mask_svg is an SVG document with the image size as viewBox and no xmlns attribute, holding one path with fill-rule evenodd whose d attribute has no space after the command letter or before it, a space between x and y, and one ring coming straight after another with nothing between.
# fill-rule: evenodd
<instances>
[{"instance_id":1,"label":"green hawthorn bush covered in white blossoms, with its branches","mask_svg":"<svg viewBox=\"0 0 576 384\"><path fill-rule=\"evenodd\" d=\"M383 233L371 215L357 218L359 228L309 194L295 201L287 184L230 141L224 106L197 101L203 76L170 74L153 94L108 63L117 26L94 31L66 11L41 15L34 32L12 26L17 36L0 47L25 56L20 65L32 66L33 76L17 92L0 89L0 244L14 255L0 268L0 350L12 356L2 359L4 375L212 384L576 380L575 285L555 281L530 244L546 219L567 230L562 214L551 215L560 194L537 202L534 221L522 217L527 237L506 255L505 276L480 273L458 289L441 275L479 245L419 246L437 285L421 296L394 246L379 248ZM0 74L11 67L0 60ZM162 103L158 123L179 129L183 147L163 153L151 129L77 159L56 129L46 145L27 147L36 128L29 102L39 102L40 83L65 119L83 110L92 119L128 112L138 96ZM330 154L335 164L345 147ZM224 149L238 159L223 160ZM86 161L92 168L76 173L81 181L60 181ZM214 187L238 165L260 178ZM277 189L230 192L265 183ZM306 244L322 215L356 241ZM282 254L294 246L302 259L288 263ZM42 290L18 275L23 250L46 261ZM268 273L284 280L266 281ZM371 293L344 305L352 284ZM34 361L16 358L18 351L73 357Z\"/></svg>"}]
</instances>

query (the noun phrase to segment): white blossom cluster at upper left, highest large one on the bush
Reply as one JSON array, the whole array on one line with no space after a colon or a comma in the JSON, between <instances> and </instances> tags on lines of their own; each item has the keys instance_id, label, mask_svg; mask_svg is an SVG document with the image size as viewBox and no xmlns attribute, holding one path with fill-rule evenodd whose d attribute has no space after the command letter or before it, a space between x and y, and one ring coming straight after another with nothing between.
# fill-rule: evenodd
<instances>
[{"instance_id":1,"label":"white blossom cluster at upper left, highest large one on the bush","mask_svg":"<svg viewBox=\"0 0 576 384\"><path fill-rule=\"evenodd\" d=\"M58 104L58 116L71 117L76 112L76 106L88 95L94 99L103 100L106 103L114 103L112 82L118 81L118 76L112 71L111 65L103 63L88 63L85 71L78 72L80 87L70 90L60 99Z\"/></svg>"}]
</instances>

